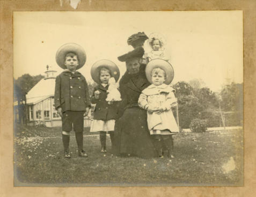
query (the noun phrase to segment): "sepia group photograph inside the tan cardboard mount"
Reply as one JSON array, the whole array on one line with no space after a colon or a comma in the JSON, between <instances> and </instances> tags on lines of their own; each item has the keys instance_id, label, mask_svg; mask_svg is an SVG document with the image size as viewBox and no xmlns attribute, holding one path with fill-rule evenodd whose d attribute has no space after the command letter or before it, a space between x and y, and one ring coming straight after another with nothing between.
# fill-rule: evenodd
<instances>
[{"instance_id":1,"label":"sepia group photograph inside the tan cardboard mount","mask_svg":"<svg viewBox=\"0 0 256 197\"><path fill-rule=\"evenodd\" d=\"M14 186L243 186L243 74L243 11L13 12Z\"/></svg>"}]
</instances>

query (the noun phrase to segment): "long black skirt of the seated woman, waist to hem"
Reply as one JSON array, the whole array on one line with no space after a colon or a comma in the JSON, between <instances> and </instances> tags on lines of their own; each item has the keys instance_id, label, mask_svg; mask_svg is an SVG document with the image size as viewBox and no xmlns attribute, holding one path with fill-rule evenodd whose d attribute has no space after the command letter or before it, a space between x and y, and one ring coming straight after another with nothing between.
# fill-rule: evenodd
<instances>
[{"instance_id":1,"label":"long black skirt of the seated woman, waist to hem","mask_svg":"<svg viewBox=\"0 0 256 197\"><path fill-rule=\"evenodd\" d=\"M147 125L147 111L128 108L115 122L113 154L152 158L157 156Z\"/></svg>"}]
</instances>

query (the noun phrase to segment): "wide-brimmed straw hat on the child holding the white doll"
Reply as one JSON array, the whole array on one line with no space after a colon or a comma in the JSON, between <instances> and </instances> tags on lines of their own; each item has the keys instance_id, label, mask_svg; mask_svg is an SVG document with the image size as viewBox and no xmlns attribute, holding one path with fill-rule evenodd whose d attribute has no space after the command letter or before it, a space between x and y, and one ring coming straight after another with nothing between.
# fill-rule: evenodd
<instances>
[{"instance_id":1,"label":"wide-brimmed straw hat on the child holding the white doll","mask_svg":"<svg viewBox=\"0 0 256 197\"><path fill-rule=\"evenodd\" d=\"M91 67L91 76L93 81L97 84L101 84L100 81L100 69L105 67L111 72L111 77L115 78L115 81L118 81L120 77L120 71L118 66L114 62L108 59L101 59L94 63Z\"/></svg>"}]
</instances>

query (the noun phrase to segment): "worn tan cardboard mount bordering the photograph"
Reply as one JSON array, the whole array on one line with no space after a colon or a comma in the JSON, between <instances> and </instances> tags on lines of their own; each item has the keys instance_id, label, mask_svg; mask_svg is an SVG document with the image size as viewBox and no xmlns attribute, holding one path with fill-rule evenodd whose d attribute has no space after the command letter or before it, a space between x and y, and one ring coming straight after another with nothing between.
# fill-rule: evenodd
<instances>
[{"instance_id":1,"label":"worn tan cardboard mount bordering the photograph","mask_svg":"<svg viewBox=\"0 0 256 197\"><path fill-rule=\"evenodd\" d=\"M82 0L77 9L60 1L5 1L1 11L1 196L253 196L255 193L254 95L256 84L255 1ZM13 11L206 11L243 10L244 21L244 187L14 187L13 186Z\"/></svg>"}]
</instances>

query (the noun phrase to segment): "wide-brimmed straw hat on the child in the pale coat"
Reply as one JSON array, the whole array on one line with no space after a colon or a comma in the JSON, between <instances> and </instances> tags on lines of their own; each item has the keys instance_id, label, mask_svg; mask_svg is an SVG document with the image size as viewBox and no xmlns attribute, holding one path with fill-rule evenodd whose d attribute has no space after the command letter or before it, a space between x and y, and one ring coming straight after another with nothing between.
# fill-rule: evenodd
<instances>
[{"instance_id":1,"label":"wide-brimmed straw hat on the child in the pale coat","mask_svg":"<svg viewBox=\"0 0 256 197\"><path fill-rule=\"evenodd\" d=\"M166 85L171 84L174 77L173 67L169 62L167 62L164 59L153 59L147 64L145 73L148 81L152 84L151 73L152 73L152 70L157 67L159 67L160 69L163 69L166 73L166 80L164 83Z\"/></svg>"}]
</instances>

